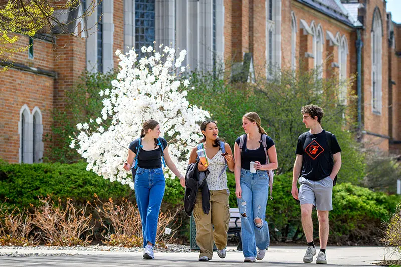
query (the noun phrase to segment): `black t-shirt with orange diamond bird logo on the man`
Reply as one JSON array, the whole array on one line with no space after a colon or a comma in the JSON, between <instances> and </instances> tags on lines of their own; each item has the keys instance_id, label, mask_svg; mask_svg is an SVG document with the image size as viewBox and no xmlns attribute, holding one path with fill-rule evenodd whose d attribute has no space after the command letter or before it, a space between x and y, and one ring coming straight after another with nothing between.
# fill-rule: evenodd
<instances>
[{"instance_id":1,"label":"black t-shirt with orange diamond bird logo on the man","mask_svg":"<svg viewBox=\"0 0 401 267\"><path fill-rule=\"evenodd\" d=\"M303 138L304 134L306 137ZM302 155L301 176L312 181L320 181L328 177L333 170L334 162L331 155L341 152L340 145L334 134L331 136L331 151L326 131L318 134L306 132L298 137L296 154ZM305 140L302 143L302 139Z\"/></svg>"}]
</instances>

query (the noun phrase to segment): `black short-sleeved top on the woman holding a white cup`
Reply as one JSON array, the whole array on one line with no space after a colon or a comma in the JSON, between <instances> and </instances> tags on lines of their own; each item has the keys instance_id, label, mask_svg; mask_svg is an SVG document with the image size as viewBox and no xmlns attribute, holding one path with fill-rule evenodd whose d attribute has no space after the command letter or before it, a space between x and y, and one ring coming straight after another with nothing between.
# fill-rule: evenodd
<instances>
[{"instance_id":1,"label":"black short-sleeved top on the woman holding a white cup","mask_svg":"<svg viewBox=\"0 0 401 267\"><path fill-rule=\"evenodd\" d=\"M260 136L262 140L262 135ZM235 142L240 145L241 137L238 137ZM272 138L269 136L266 137L266 151L274 145ZM265 150L263 149L263 144L260 142L260 146L258 149L248 149L247 148L247 137L245 137L244 145L242 147L241 153L241 168L244 170L250 170L251 161L259 161L260 164L266 164L266 154Z\"/></svg>"}]
</instances>

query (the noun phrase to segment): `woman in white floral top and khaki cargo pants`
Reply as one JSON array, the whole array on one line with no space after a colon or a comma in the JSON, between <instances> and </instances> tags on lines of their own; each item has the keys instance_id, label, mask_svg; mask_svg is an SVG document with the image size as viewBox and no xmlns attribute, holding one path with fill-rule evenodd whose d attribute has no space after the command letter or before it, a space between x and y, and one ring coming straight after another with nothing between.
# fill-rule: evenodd
<instances>
[{"instance_id":1,"label":"woman in white floral top and khaki cargo pants","mask_svg":"<svg viewBox=\"0 0 401 267\"><path fill-rule=\"evenodd\" d=\"M203 148L206 150L208 166L199 162L199 171L209 170L206 181L210 192L210 211L205 214L202 209L202 194L196 195L193 217L196 222L196 243L200 247L199 261L208 261L213 256L213 241L220 258L226 256L227 230L230 221L229 195L227 187L226 163L229 170L234 171L233 153L229 144L218 138L219 130L216 122L206 120L200 124L204 136ZM225 153L223 154L223 150ZM189 164L195 163L198 146L192 149Z\"/></svg>"}]
</instances>

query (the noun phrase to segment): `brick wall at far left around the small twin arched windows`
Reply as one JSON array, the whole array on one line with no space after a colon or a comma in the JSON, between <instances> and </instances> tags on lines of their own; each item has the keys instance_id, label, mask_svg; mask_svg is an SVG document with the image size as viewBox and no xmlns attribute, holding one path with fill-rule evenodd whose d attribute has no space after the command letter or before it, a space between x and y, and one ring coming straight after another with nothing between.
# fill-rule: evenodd
<instances>
[{"instance_id":1,"label":"brick wall at far left around the small twin arched windows","mask_svg":"<svg viewBox=\"0 0 401 267\"><path fill-rule=\"evenodd\" d=\"M25 47L29 44L27 36L19 35L14 47ZM43 70L53 70L54 61L52 44L34 38L34 58L28 58L28 50L11 55L9 60L15 64ZM30 113L38 107L42 113L43 134L51 135L53 123L53 88L54 79L45 75L38 75L13 68L0 75L0 158L7 162L19 162L18 150L20 135L18 122L20 109L27 105ZM49 143L45 143L45 151ZM46 154L44 154L46 155Z\"/></svg>"}]
</instances>

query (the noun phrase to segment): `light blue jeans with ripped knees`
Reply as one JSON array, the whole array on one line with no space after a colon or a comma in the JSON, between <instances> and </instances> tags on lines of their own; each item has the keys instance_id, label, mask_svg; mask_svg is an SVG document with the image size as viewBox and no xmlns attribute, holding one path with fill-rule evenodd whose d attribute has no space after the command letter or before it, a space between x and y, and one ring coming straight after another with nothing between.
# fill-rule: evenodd
<instances>
[{"instance_id":1,"label":"light blue jeans with ripped knees","mask_svg":"<svg viewBox=\"0 0 401 267\"><path fill-rule=\"evenodd\" d=\"M256 247L266 249L270 244L269 226L266 217L266 204L269 194L269 177L266 171L251 173L241 169L241 198L237 198L241 214L241 239L244 257L256 257ZM255 219L261 219L257 227Z\"/></svg>"}]
</instances>

